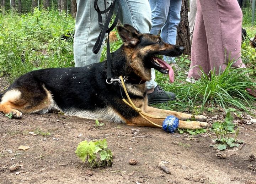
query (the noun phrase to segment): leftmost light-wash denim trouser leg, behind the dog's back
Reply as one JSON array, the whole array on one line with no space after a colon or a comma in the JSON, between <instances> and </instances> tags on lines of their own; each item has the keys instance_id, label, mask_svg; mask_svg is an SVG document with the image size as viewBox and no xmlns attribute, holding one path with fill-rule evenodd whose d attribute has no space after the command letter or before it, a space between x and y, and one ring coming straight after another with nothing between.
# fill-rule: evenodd
<instances>
[{"instance_id":1,"label":"leftmost light-wash denim trouser leg, behind the dog's back","mask_svg":"<svg viewBox=\"0 0 256 184\"><path fill-rule=\"evenodd\" d=\"M107 2L111 3L111 0L107 0ZM98 1L98 6L101 11L104 10L104 1ZM102 16L102 21L105 22L105 15ZM74 59L76 67L90 65L100 61L102 47L98 54L95 55L92 52L100 30L98 26L98 15L94 9L94 0L77 0L74 37Z\"/></svg>"}]
</instances>

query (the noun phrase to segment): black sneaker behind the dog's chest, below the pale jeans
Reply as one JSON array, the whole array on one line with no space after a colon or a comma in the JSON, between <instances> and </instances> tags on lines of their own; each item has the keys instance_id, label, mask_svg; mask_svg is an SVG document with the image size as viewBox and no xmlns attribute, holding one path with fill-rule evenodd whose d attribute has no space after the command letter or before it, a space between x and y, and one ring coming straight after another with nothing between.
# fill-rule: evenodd
<instances>
[{"instance_id":1,"label":"black sneaker behind the dog's chest, below the pale jeans","mask_svg":"<svg viewBox=\"0 0 256 184\"><path fill-rule=\"evenodd\" d=\"M175 96L174 93L165 91L158 85L153 93L148 93L148 104L171 101L175 99Z\"/></svg>"}]
</instances>

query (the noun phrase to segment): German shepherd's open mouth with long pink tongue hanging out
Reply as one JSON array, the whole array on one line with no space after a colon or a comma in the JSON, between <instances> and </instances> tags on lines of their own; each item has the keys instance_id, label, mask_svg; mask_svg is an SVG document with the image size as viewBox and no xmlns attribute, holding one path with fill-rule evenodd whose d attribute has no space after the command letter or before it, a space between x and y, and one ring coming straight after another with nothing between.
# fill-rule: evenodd
<instances>
[{"instance_id":1,"label":"German shepherd's open mouth with long pink tongue hanging out","mask_svg":"<svg viewBox=\"0 0 256 184\"><path fill-rule=\"evenodd\" d=\"M151 58L151 62L153 63L153 68L157 69L159 72L164 74L169 73L170 82L174 82L174 71L168 63L155 56Z\"/></svg>"}]
</instances>

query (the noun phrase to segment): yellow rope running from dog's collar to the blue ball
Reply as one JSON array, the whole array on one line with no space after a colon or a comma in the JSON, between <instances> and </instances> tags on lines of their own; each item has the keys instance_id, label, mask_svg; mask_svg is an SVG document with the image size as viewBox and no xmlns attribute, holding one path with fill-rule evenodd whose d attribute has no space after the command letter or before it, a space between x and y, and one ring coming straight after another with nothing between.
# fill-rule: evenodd
<instances>
[{"instance_id":1,"label":"yellow rope running from dog's collar to the blue ball","mask_svg":"<svg viewBox=\"0 0 256 184\"><path fill-rule=\"evenodd\" d=\"M128 100L129 100L130 103L127 102L124 98L123 98L123 101L124 101L127 105L129 105L130 107L132 107L136 112L138 112L139 115L140 115L141 117L143 117L146 121L148 121L149 123L153 124L153 125L156 126L156 127L162 128L161 125L155 124L154 122L150 121L150 120L149 120L148 118L146 118L145 116L147 116L147 117L149 117L149 118L154 118L154 119L165 119L166 117L153 116L153 115L150 115L150 114L148 114L148 113L143 112L140 108L136 107L136 106L133 104L132 100L130 99L130 97L129 97L129 95L128 95L128 92L127 92L126 87L125 87L125 85L124 85L123 77L120 76L120 79L121 79L121 82L122 82L122 86L123 86L124 92L125 92L125 94L126 94L126 96L127 96L127 98L128 98Z\"/></svg>"}]
</instances>

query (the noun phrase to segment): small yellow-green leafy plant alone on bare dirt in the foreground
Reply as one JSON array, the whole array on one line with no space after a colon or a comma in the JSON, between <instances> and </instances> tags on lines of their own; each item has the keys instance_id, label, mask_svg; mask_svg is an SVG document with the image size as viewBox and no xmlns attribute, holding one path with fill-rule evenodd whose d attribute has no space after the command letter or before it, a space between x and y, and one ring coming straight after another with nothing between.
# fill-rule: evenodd
<instances>
[{"instance_id":1,"label":"small yellow-green leafy plant alone on bare dirt in the foreground","mask_svg":"<svg viewBox=\"0 0 256 184\"><path fill-rule=\"evenodd\" d=\"M76 155L87 162L90 167L112 166L112 151L107 148L107 140L95 140L80 142L76 148Z\"/></svg>"}]
</instances>

